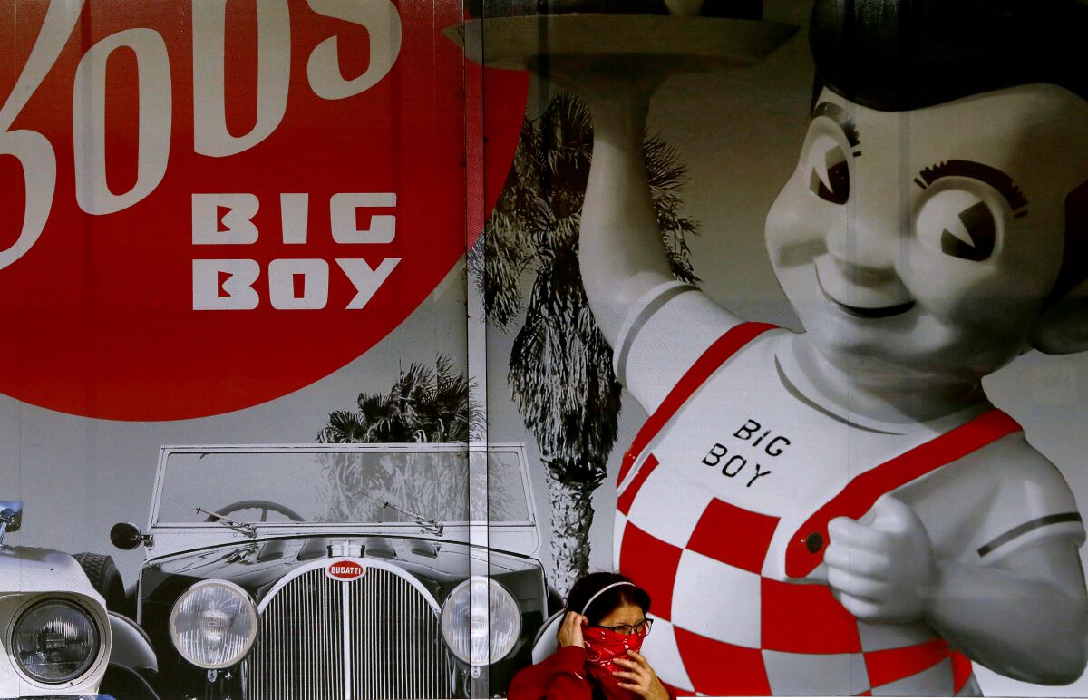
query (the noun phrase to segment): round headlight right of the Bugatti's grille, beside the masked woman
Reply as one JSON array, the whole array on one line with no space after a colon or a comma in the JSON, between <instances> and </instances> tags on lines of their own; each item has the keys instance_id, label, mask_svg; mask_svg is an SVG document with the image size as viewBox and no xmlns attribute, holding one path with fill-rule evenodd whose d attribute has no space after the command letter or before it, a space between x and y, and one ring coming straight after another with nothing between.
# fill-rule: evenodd
<instances>
[{"instance_id":1,"label":"round headlight right of the Bugatti's grille, beside the masked woman","mask_svg":"<svg viewBox=\"0 0 1088 700\"><path fill-rule=\"evenodd\" d=\"M510 653L521 634L521 610L496 581L473 576L442 606L442 636L454 655L482 666Z\"/></svg>"}]
</instances>

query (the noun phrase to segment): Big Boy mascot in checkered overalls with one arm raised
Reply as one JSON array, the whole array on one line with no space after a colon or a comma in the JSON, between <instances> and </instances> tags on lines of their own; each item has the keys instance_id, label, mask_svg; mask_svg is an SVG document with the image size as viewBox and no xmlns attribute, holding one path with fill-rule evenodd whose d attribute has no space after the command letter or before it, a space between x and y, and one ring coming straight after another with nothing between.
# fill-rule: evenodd
<instances>
[{"instance_id":1,"label":"Big Boy mascot in checkered overalls with one arm raised","mask_svg":"<svg viewBox=\"0 0 1088 700\"><path fill-rule=\"evenodd\" d=\"M1086 44L1078 0L817 0L821 87L766 223L803 333L672 281L654 81L571 81L596 134L582 273L651 415L616 556L667 683L947 696L978 692L972 661L1084 671L1081 518L980 381L1088 348Z\"/></svg>"}]
</instances>

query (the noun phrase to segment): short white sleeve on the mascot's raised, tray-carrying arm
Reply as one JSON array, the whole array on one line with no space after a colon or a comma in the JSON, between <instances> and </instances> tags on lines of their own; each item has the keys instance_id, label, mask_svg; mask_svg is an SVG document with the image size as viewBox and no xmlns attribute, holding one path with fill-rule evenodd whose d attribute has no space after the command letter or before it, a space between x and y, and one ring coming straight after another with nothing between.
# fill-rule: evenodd
<instances>
[{"instance_id":1,"label":"short white sleeve on the mascot's raised, tray-carrying arm","mask_svg":"<svg viewBox=\"0 0 1088 700\"><path fill-rule=\"evenodd\" d=\"M660 284L634 304L620 327L616 377L653 414L706 348L741 322L690 284Z\"/></svg>"}]
</instances>

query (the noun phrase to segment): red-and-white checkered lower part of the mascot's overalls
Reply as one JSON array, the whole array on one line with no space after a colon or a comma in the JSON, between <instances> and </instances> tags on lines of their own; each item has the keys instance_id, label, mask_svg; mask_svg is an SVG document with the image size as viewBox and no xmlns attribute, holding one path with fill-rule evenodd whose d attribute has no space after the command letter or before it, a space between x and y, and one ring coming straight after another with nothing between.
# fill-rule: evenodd
<instances>
[{"instance_id":1,"label":"red-and-white checkered lower part of the mascot's overalls","mask_svg":"<svg viewBox=\"0 0 1088 700\"><path fill-rule=\"evenodd\" d=\"M703 495L658 466L647 456L623 491L617 551L620 570L653 601L646 653L666 681L712 696L950 696L963 688L970 662L931 630L873 634L828 587L763 576L778 518ZM660 493L654 481L666 480L673 507L640 502L644 486ZM744 535L730 536L737 532Z\"/></svg>"}]
</instances>

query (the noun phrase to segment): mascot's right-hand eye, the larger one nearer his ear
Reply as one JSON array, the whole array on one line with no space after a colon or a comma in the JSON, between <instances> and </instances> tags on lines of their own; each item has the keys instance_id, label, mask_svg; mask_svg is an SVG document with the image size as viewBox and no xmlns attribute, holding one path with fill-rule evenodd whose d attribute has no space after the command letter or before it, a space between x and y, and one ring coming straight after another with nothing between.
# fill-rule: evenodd
<instances>
[{"instance_id":1,"label":"mascot's right-hand eye, the larger one nearer his ear","mask_svg":"<svg viewBox=\"0 0 1088 700\"><path fill-rule=\"evenodd\" d=\"M924 244L962 260L988 259L998 242L993 210L964 189L945 189L930 197L916 225Z\"/></svg>"}]
</instances>

